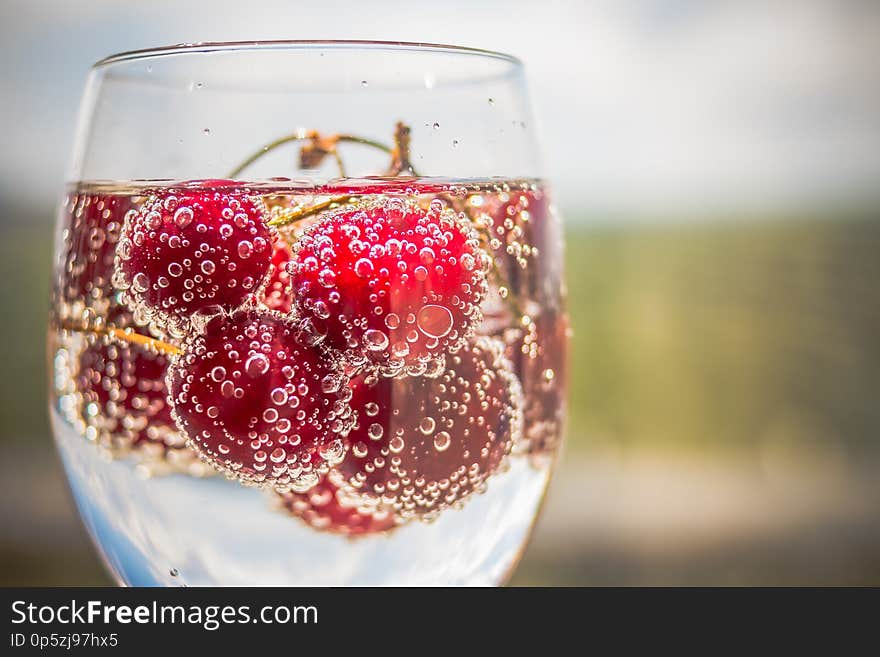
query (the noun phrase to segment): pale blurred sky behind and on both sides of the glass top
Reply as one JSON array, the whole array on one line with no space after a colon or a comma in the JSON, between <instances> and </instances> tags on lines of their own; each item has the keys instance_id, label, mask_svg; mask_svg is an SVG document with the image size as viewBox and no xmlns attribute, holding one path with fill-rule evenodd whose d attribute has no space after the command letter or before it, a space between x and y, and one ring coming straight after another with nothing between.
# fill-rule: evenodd
<instances>
[{"instance_id":1,"label":"pale blurred sky behind and on both sides of the glass top","mask_svg":"<svg viewBox=\"0 0 880 657\"><path fill-rule=\"evenodd\" d=\"M876 199L880 3L870 0L0 0L3 205L56 202L95 60L261 38L519 56L547 177L572 217Z\"/></svg>"}]
</instances>

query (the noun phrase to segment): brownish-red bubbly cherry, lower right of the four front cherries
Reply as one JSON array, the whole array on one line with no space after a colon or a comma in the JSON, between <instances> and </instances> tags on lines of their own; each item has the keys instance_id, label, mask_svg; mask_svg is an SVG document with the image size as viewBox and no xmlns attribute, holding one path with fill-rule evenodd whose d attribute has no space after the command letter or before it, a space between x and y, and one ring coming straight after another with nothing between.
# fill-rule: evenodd
<instances>
[{"instance_id":1,"label":"brownish-red bubbly cherry, lower right of the four front cherries","mask_svg":"<svg viewBox=\"0 0 880 657\"><path fill-rule=\"evenodd\" d=\"M502 351L481 337L449 356L439 377L355 379L358 420L331 479L403 519L480 490L522 432L522 391Z\"/></svg>"}]
</instances>

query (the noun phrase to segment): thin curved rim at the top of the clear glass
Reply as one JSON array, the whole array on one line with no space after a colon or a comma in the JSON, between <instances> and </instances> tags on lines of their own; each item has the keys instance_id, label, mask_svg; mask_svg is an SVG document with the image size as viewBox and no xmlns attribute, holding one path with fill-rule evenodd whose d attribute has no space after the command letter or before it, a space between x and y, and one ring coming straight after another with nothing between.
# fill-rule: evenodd
<instances>
[{"instance_id":1,"label":"thin curved rim at the top of the clear glass","mask_svg":"<svg viewBox=\"0 0 880 657\"><path fill-rule=\"evenodd\" d=\"M180 43L169 46L128 50L104 57L92 64L92 68L98 69L122 62L155 59L157 57L166 57L169 55L260 50L317 50L321 47L340 50L451 53L499 59L516 67L523 66L522 60L515 55L495 50L472 48L469 46L454 46L415 41L374 41L370 39L278 39L258 41L203 41L198 43Z\"/></svg>"}]
</instances>

